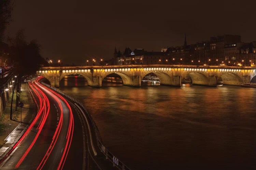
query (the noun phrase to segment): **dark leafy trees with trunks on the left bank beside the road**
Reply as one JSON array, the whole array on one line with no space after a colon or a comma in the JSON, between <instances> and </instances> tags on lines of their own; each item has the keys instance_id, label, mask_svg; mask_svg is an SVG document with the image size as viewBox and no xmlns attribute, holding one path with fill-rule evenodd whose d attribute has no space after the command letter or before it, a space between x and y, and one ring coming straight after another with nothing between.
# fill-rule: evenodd
<instances>
[{"instance_id":1,"label":"dark leafy trees with trunks on the left bank beside the road","mask_svg":"<svg viewBox=\"0 0 256 170\"><path fill-rule=\"evenodd\" d=\"M13 5L12 0L0 0L0 66L3 72L8 69L16 75L14 88L17 85L15 107L17 111L21 82L47 63L40 54L40 45L36 40L26 41L22 29L17 31L14 37L6 38L4 42L4 32L12 21ZM12 119L12 103L10 119Z\"/></svg>"}]
</instances>

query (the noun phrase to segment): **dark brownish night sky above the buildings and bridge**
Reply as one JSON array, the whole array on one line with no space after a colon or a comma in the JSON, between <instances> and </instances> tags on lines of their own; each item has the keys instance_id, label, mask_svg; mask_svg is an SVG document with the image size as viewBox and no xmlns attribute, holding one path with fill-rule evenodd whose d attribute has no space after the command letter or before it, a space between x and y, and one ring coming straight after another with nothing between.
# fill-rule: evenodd
<instances>
[{"instance_id":1,"label":"dark brownish night sky above the buildings and bridge","mask_svg":"<svg viewBox=\"0 0 256 170\"><path fill-rule=\"evenodd\" d=\"M85 65L87 58L113 56L127 45L160 51L210 36L238 34L256 40L256 1L16 0L6 35L25 29L42 56Z\"/></svg>"}]
</instances>

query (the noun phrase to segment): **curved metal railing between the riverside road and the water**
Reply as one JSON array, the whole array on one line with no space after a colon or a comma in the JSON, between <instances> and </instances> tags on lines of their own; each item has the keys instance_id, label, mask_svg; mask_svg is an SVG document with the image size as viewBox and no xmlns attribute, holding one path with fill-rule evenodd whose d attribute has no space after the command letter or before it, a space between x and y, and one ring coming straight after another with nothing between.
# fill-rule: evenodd
<instances>
[{"instance_id":1,"label":"curved metal railing between the riverside road and the water","mask_svg":"<svg viewBox=\"0 0 256 170\"><path fill-rule=\"evenodd\" d=\"M94 129L94 133L96 135L96 140L97 140L97 146L99 147L100 151L105 155L105 158L110 160L111 163L113 163L113 166L116 166L118 169L120 170L130 170L130 168L128 168L124 163L122 163L117 157L114 156L114 154L112 154L108 149L106 149L102 143L102 141L99 138L99 133L98 133L98 128L96 123L93 120L93 117L91 116L91 114L88 112L87 108L84 106L83 103L81 103L79 100L73 98L72 96L66 94L64 91L53 87L51 85L48 85L44 82L41 82L43 85L57 91L59 94L67 97L68 99L72 100L73 102L75 102L76 104L78 104L79 106L81 106L85 113L87 114L87 116L89 117L90 121L93 124L93 129ZM93 142L93 141L92 141Z\"/></svg>"}]
</instances>

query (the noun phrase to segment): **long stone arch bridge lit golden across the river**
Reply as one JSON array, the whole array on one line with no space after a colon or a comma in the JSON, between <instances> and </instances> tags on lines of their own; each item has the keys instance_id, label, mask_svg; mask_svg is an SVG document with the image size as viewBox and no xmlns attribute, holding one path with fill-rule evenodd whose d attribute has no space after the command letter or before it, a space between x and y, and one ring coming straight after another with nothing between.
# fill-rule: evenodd
<instances>
[{"instance_id":1,"label":"long stone arch bridge lit golden across the river","mask_svg":"<svg viewBox=\"0 0 256 170\"><path fill-rule=\"evenodd\" d=\"M109 74L118 74L127 86L141 86L141 80L148 73L154 73L161 85L181 86L184 78L190 78L192 84L216 86L218 81L227 85L250 83L255 67L236 66L194 66L194 65L122 65L122 66L76 66L42 67L37 74L49 80L52 86L67 75L80 74L89 86L101 87L102 80Z\"/></svg>"}]
</instances>

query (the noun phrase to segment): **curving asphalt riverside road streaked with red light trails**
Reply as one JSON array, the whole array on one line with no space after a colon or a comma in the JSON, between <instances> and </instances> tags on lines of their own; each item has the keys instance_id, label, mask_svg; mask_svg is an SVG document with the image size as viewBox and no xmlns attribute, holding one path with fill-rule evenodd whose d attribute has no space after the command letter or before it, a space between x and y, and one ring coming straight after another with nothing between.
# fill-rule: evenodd
<instances>
[{"instance_id":1,"label":"curving asphalt riverside road streaked with red light trails","mask_svg":"<svg viewBox=\"0 0 256 170\"><path fill-rule=\"evenodd\" d=\"M113 169L95 144L83 110L41 80L29 82L38 113L0 169Z\"/></svg>"}]
</instances>

